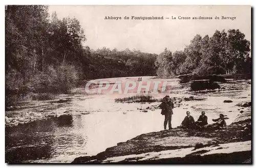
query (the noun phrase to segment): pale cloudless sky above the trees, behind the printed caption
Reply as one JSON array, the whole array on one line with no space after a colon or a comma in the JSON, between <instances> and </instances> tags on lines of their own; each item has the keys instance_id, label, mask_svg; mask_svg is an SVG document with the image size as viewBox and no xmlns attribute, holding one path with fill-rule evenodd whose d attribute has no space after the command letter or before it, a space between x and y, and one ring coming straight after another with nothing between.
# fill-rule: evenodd
<instances>
[{"instance_id":1,"label":"pale cloudless sky above the trees, behind the printed caption","mask_svg":"<svg viewBox=\"0 0 256 168\"><path fill-rule=\"evenodd\" d=\"M197 34L212 36L216 30L239 29L251 41L250 6L49 6L59 19L76 17L84 29L91 49L102 47L142 52L161 53L183 50ZM121 17L118 20L105 16ZM124 19L124 16L130 19ZM163 16L163 20L135 20L131 16ZM190 17L191 19L178 19ZM212 17L211 20L193 20L193 17ZM218 16L220 19L215 19ZM234 20L221 19L236 17ZM176 19L171 19L176 17ZM170 19L165 19L170 18Z\"/></svg>"}]
</instances>

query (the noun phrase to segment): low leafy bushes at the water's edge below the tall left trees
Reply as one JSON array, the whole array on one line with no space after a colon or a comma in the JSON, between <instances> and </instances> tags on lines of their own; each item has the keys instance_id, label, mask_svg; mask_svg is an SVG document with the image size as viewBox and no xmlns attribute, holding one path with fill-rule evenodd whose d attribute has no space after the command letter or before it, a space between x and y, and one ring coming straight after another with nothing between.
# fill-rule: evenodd
<instances>
[{"instance_id":1,"label":"low leafy bushes at the water's edge below the tall left trees","mask_svg":"<svg viewBox=\"0 0 256 168\"><path fill-rule=\"evenodd\" d=\"M34 73L26 80L14 69L6 74L6 105L25 98L52 100L54 94L68 93L79 79L78 71L72 65L49 66L45 72Z\"/></svg>"}]
</instances>

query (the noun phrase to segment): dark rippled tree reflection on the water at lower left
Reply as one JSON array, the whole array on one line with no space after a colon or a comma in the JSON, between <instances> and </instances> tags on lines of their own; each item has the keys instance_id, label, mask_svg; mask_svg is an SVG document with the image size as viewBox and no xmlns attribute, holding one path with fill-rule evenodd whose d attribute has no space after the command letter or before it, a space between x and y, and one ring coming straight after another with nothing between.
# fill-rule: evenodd
<instances>
[{"instance_id":1,"label":"dark rippled tree reflection on the water at lower left","mask_svg":"<svg viewBox=\"0 0 256 168\"><path fill-rule=\"evenodd\" d=\"M73 125L74 119L76 124ZM60 152L83 148L86 137L79 130L81 116L63 115L49 120L6 128L6 162L20 163L48 160Z\"/></svg>"}]
</instances>

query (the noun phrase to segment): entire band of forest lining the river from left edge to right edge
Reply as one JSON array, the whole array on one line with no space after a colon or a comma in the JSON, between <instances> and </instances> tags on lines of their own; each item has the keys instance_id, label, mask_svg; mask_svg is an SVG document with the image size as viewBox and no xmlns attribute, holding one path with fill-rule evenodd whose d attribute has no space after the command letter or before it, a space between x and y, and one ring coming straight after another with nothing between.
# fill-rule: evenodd
<instances>
[{"instance_id":1,"label":"entire band of forest lining the river from left edge to right edge","mask_svg":"<svg viewBox=\"0 0 256 168\"><path fill-rule=\"evenodd\" d=\"M250 42L239 30L196 35L182 51L97 50L84 46L79 20L59 19L48 6L5 11L6 101L28 93L68 93L84 80L121 76L173 77L196 73L250 73ZM90 23L88 23L90 24ZM11 100L11 99L10 99Z\"/></svg>"}]
</instances>

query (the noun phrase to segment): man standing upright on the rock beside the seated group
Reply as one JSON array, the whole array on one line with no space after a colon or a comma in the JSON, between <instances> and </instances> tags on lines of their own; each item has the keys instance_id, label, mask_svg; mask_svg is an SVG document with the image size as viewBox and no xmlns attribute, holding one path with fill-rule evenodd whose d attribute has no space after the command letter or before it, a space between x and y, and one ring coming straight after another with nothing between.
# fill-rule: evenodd
<instances>
[{"instance_id":1,"label":"man standing upright on the rock beside the seated group","mask_svg":"<svg viewBox=\"0 0 256 168\"><path fill-rule=\"evenodd\" d=\"M166 130L166 126L168 123L168 128L172 128L172 115L173 115L173 105L172 101L169 100L169 96L165 96L163 98L163 102L159 105L161 110L161 115L164 115L164 130Z\"/></svg>"}]
</instances>

